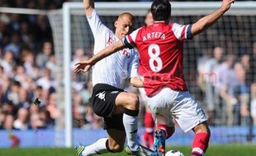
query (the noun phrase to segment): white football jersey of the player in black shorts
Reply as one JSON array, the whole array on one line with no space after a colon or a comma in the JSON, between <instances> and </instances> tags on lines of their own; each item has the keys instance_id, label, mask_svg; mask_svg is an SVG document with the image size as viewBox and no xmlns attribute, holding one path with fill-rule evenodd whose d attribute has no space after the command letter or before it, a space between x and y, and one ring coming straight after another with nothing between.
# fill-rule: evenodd
<instances>
[{"instance_id":1,"label":"white football jersey of the player in black shorts","mask_svg":"<svg viewBox=\"0 0 256 156\"><path fill-rule=\"evenodd\" d=\"M92 11L88 23L94 37L93 55L119 40L106 25L102 24L97 11ZM92 67L92 85L104 83L124 89L126 80L138 76L138 59L138 53L128 48L103 58Z\"/></svg>"}]
</instances>

